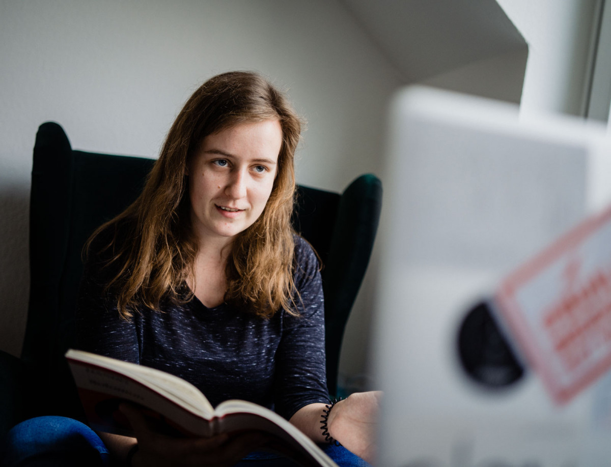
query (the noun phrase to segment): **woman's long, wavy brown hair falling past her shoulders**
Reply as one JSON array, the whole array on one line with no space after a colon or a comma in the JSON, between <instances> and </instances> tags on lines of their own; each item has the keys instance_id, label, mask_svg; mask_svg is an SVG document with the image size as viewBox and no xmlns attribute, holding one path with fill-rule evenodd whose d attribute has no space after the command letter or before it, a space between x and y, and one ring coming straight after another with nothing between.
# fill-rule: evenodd
<instances>
[{"instance_id":1,"label":"woman's long, wavy brown hair falling past her shoulders","mask_svg":"<svg viewBox=\"0 0 611 467\"><path fill-rule=\"evenodd\" d=\"M281 307L296 314L290 217L301 120L284 94L262 76L233 71L214 76L186 101L142 194L87 241L89 254L100 233L114 231L100 250L111 253L104 255L104 266L114 265L107 289L116 291L124 319L141 305L159 311L162 300L185 303L192 298L192 292L185 294L185 281L193 273L197 243L191 234L186 164L206 136L264 120L277 120L282 128L276 179L263 214L233 241L225 271L225 302L263 317Z\"/></svg>"}]
</instances>

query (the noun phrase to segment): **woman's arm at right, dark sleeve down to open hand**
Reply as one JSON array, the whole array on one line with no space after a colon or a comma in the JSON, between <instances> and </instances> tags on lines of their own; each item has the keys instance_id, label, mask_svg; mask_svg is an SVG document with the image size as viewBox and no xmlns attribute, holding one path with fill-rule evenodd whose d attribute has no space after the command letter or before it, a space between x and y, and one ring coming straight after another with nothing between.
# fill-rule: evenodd
<instances>
[{"instance_id":1,"label":"woman's arm at right, dark sleeve down to open hand","mask_svg":"<svg viewBox=\"0 0 611 467\"><path fill-rule=\"evenodd\" d=\"M277 352L276 409L316 442L324 442L321 420L328 400L324 358L324 297L312 248L296 241L295 286L299 316L287 317ZM357 393L334 405L329 434L349 451L370 460L375 447L379 393Z\"/></svg>"}]
</instances>

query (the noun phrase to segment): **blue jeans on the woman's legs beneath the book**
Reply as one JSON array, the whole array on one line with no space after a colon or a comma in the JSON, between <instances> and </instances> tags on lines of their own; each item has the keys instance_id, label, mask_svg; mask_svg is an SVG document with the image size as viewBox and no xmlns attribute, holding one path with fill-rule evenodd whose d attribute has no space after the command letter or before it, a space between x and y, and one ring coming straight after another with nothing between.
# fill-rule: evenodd
<instances>
[{"instance_id":1,"label":"blue jeans on the woman's legs beneath the book","mask_svg":"<svg viewBox=\"0 0 611 467\"><path fill-rule=\"evenodd\" d=\"M324 452L340 467L370 467L341 446L325 444ZM98 435L71 418L45 416L26 420L0 440L0 465L4 467L110 466L111 456ZM294 467L287 458L265 452L252 453L239 467Z\"/></svg>"}]
</instances>

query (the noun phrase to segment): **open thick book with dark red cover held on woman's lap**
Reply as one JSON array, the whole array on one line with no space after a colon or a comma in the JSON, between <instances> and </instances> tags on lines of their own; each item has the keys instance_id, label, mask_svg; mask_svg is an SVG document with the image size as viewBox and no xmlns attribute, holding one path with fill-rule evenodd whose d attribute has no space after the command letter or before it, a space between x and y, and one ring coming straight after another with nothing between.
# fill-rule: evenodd
<instances>
[{"instance_id":1,"label":"open thick book with dark red cover held on woman's lap","mask_svg":"<svg viewBox=\"0 0 611 467\"><path fill-rule=\"evenodd\" d=\"M133 436L118 410L127 401L139 405L155 429L169 435L262 430L277 440L266 450L302 465L337 467L301 430L268 408L246 400L225 400L214 408L199 389L166 372L81 350L68 350L66 358L94 430Z\"/></svg>"}]
</instances>

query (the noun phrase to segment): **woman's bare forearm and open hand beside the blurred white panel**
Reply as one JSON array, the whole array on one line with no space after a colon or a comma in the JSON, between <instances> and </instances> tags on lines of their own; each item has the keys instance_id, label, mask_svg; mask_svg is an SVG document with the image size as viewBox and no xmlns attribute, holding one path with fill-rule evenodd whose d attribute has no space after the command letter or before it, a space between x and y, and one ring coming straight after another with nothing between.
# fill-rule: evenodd
<instances>
[{"instance_id":1,"label":"woman's bare forearm and open hand beside the blurred white panel","mask_svg":"<svg viewBox=\"0 0 611 467\"><path fill-rule=\"evenodd\" d=\"M333 406L327 419L329 435L367 462L375 457L380 397L379 391L351 394ZM326 410L325 404L305 405L290 422L312 440L322 443L325 441L321 429L323 410Z\"/></svg>"}]
</instances>

